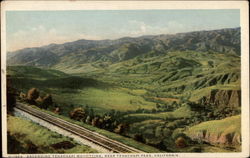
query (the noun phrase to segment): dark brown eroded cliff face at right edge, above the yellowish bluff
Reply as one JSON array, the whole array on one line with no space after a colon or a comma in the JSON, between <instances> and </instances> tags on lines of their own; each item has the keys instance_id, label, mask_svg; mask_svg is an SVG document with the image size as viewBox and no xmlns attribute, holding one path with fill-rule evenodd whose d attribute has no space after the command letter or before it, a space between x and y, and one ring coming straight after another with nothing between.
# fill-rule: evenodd
<instances>
[{"instance_id":1,"label":"dark brown eroded cliff face at right edge, above the yellowish bluff","mask_svg":"<svg viewBox=\"0 0 250 158\"><path fill-rule=\"evenodd\" d=\"M217 106L240 107L240 90L212 90L210 95L201 99L202 103L214 104Z\"/></svg>"}]
</instances>

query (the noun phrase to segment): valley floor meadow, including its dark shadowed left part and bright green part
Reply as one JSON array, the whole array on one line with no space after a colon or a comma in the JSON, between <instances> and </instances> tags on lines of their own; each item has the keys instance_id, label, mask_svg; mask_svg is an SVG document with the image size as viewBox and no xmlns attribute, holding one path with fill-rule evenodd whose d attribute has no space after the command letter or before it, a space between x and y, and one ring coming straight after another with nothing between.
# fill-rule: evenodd
<instances>
[{"instance_id":1,"label":"valley floor meadow, including its dark shadowed left part and bright green part","mask_svg":"<svg viewBox=\"0 0 250 158\"><path fill-rule=\"evenodd\" d=\"M56 70L25 66L8 67L8 74L12 76L12 84L15 88L27 92L28 89L36 87L42 95L51 93L54 101L63 105L65 114L71 110L72 107L69 106L71 104L88 105L101 113L111 109L127 111L140 107L145 109L155 107L155 103L141 97L141 94L145 93L143 90L134 90L131 93L126 88L110 86L89 78L70 77L64 73L55 77L54 72L60 74L60 71Z\"/></svg>"}]
</instances>

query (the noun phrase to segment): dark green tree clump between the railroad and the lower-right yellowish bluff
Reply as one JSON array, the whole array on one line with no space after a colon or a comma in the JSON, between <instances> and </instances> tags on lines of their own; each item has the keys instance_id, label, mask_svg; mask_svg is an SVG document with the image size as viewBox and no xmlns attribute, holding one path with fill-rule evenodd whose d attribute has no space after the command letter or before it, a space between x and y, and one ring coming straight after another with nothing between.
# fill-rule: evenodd
<instances>
[{"instance_id":1,"label":"dark green tree clump between the railroad and the lower-right yellowish bluff","mask_svg":"<svg viewBox=\"0 0 250 158\"><path fill-rule=\"evenodd\" d=\"M131 131L128 131L126 134L136 141L169 152L178 151L180 148L193 146L193 144L197 143L184 134L184 128L173 125L177 124L176 121L178 121L178 119L174 120L172 125L170 125L170 121L152 126L141 125L140 128L145 129L142 131L140 131L138 127L137 129L131 127ZM181 124L182 122L180 121L178 123Z\"/></svg>"}]
</instances>

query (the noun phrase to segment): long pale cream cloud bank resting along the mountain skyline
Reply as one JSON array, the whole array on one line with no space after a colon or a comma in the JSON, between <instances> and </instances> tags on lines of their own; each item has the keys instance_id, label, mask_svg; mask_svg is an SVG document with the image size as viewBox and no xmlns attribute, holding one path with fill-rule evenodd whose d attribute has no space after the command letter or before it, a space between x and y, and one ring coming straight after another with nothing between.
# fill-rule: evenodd
<instances>
[{"instance_id":1,"label":"long pale cream cloud bank resting along the mountain skyline","mask_svg":"<svg viewBox=\"0 0 250 158\"><path fill-rule=\"evenodd\" d=\"M79 39L116 39L124 36L137 37L142 35L173 34L187 29L183 24L176 21L162 22L161 25L148 24L144 21L130 20L126 25L110 31L99 32L77 32L70 33L56 28L46 28L43 25L19 30L7 36L7 50L14 51L26 47L39 47L51 43L65 43ZM80 30L81 31L81 30ZM82 30L84 31L84 30Z\"/></svg>"}]
</instances>

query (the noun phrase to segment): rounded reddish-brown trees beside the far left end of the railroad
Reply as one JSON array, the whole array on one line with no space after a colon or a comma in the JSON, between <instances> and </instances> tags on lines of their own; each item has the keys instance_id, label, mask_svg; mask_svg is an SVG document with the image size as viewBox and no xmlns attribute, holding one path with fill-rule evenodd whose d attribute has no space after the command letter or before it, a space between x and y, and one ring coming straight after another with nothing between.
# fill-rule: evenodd
<instances>
[{"instance_id":1,"label":"rounded reddish-brown trees beside the far left end of the railroad","mask_svg":"<svg viewBox=\"0 0 250 158\"><path fill-rule=\"evenodd\" d=\"M49 106L54 104L51 94L46 94L42 97L37 88L31 88L27 94L21 92L19 98L22 101L36 105L42 109L48 109Z\"/></svg>"}]
</instances>

